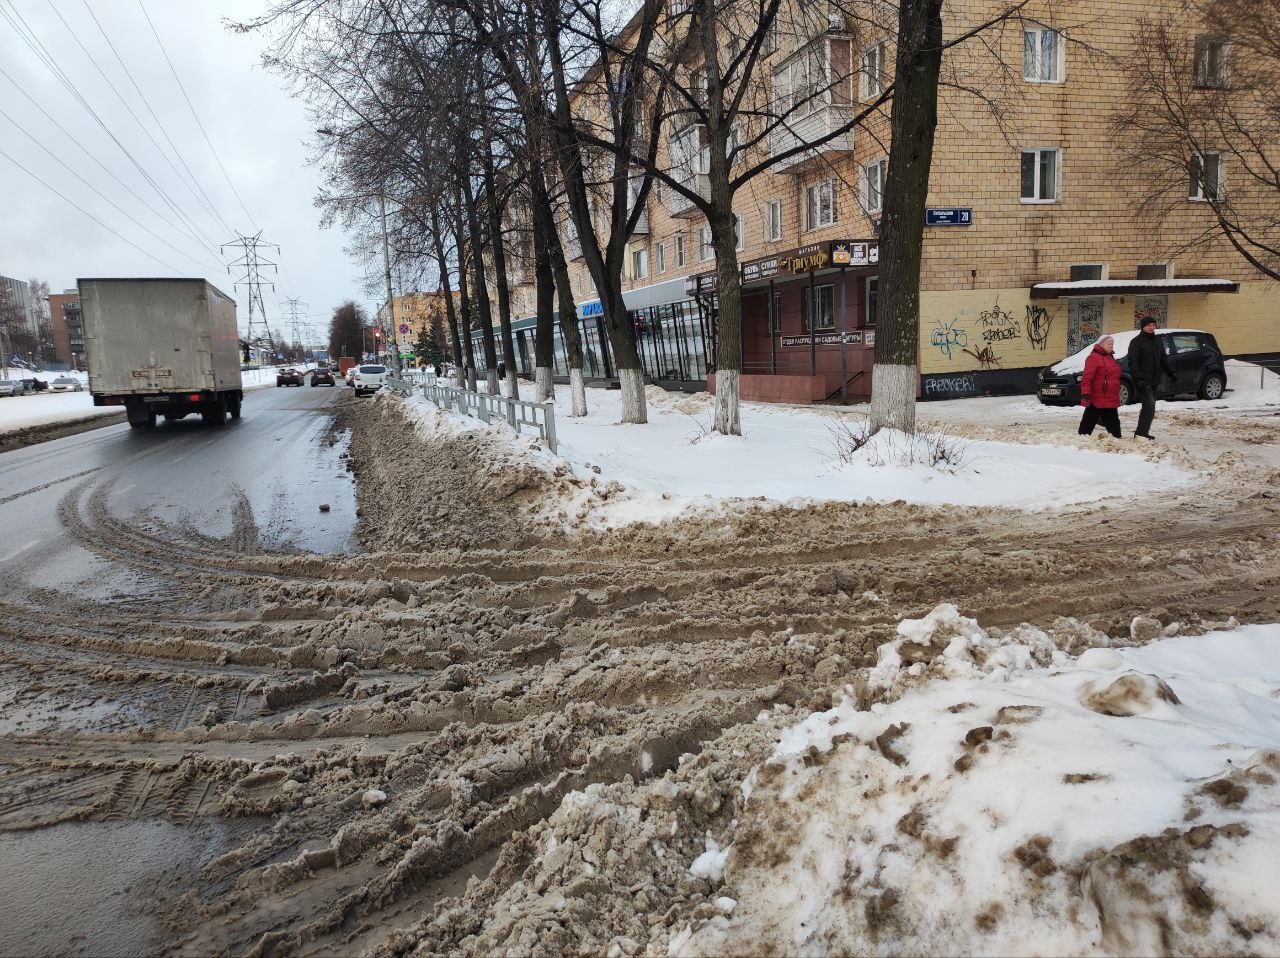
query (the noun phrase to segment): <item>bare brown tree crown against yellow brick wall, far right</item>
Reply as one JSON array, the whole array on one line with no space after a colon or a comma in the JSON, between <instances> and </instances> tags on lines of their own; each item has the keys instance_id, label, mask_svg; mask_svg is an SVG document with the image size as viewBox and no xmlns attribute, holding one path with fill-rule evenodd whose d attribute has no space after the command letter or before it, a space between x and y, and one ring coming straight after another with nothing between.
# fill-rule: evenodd
<instances>
[{"instance_id":1,"label":"bare brown tree crown against yellow brick wall, far right","mask_svg":"<svg viewBox=\"0 0 1280 958\"><path fill-rule=\"evenodd\" d=\"M1115 127L1139 211L1199 200L1208 216L1179 251L1225 238L1280 279L1280 0L1187 0L1146 18L1134 51Z\"/></svg>"}]
</instances>

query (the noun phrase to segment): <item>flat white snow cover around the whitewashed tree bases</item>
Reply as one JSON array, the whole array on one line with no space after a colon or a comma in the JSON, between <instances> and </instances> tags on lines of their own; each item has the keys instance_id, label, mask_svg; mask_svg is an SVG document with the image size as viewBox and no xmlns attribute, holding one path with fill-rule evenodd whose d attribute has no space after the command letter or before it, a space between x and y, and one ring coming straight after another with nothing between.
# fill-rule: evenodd
<instances>
[{"instance_id":1,"label":"flat white snow cover around the whitewashed tree bases","mask_svg":"<svg viewBox=\"0 0 1280 958\"><path fill-rule=\"evenodd\" d=\"M710 433L712 398L649 388L649 423L621 424L621 393L588 391L589 415L570 415L566 387L556 393L559 457L573 475L617 483L588 521L657 523L686 511L718 511L726 503L765 499L904 499L919 503L1050 508L1108 497L1169 492L1194 482L1192 473L1139 455L1074 447L959 441L945 434L883 432L851 455L840 455L841 421L828 410L742 403L742 437ZM412 403L431 430L438 412L417 396ZM454 416L466 423L465 418ZM475 428L470 420L462 428ZM494 429L507 429L494 425ZM529 433L526 432L526 435ZM524 443L522 443L524 444ZM940 455L940 452L942 455ZM553 459L549 453L544 455Z\"/></svg>"}]
</instances>

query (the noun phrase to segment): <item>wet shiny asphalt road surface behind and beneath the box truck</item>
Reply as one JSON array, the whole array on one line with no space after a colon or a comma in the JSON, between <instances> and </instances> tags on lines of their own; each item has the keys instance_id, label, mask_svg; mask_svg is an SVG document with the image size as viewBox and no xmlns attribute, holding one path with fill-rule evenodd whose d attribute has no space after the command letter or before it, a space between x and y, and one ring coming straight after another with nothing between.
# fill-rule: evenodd
<instances>
[{"instance_id":1,"label":"wet shiny asphalt road surface behind and beneath the box truck","mask_svg":"<svg viewBox=\"0 0 1280 958\"><path fill-rule=\"evenodd\" d=\"M221 428L198 416L155 430L120 424L0 453L0 587L84 598L140 588L134 572L68 534L59 505L74 491L104 496L118 519L150 515L269 549L347 551L355 485L339 460L344 439L326 442L340 392L268 387L246 393L242 419Z\"/></svg>"}]
</instances>

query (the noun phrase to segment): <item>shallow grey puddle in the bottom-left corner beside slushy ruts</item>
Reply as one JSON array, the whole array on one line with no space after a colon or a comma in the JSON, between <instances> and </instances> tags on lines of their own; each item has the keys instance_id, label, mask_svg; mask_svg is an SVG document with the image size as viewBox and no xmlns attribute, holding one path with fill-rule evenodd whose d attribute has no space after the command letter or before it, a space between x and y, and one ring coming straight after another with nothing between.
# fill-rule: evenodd
<instances>
[{"instance_id":1,"label":"shallow grey puddle in the bottom-left corner beside slushy ruts","mask_svg":"<svg viewBox=\"0 0 1280 958\"><path fill-rule=\"evenodd\" d=\"M159 954L175 889L228 843L227 826L212 822L68 822L0 834L0 954Z\"/></svg>"}]
</instances>

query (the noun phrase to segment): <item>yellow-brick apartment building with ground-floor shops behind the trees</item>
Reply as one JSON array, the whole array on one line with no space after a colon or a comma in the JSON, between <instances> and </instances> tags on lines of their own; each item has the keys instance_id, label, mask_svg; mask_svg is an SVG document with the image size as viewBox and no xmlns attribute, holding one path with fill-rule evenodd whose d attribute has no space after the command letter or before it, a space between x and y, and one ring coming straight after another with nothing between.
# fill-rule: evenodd
<instances>
[{"instance_id":1,"label":"yellow-brick apartment building with ground-floor shops behind the trees","mask_svg":"<svg viewBox=\"0 0 1280 958\"><path fill-rule=\"evenodd\" d=\"M991 6L948 5L948 36ZM1189 237L1212 232L1211 211L1196 195L1201 187L1192 184L1166 215L1135 215L1139 174L1125 168L1125 133L1114 129L1114 113L1128 95L1123 64L1142 53L1139 19L1165 8L1172 12L1171 3L1151 0L1033 4L1029 19L1005 24L980 50L948 54L970 83L986 85L1001 115L997 122L972 93L942 91L922 268L923 398L1033 391L1044 365L1147 315L1206 329L1228 355L1280 353L1280 288L1225 240L1176 252ZM1221 41L1187 23L1185 42L1196 50L1197 70L1221 69ZM874 97L892 64L890 37L847 31L833 17L812 40L778 45L760 82L785 82L815 50L828 76L847 76L847 83L790 131L776 131L764 149L781 151L794 142L787 137L835 128L824 124ZM849 68L837 70L844 63ZM696 145L696 129L667 131L659 155L669 155L673 137L687 136ZM820 401L842 383L851 396L869 396L887 141L881 117L776 164L739 191L744 398ZM1225 155L1204 158L1225 187ZM686 182L705 195L701 164ZM696 207L675 191L650 191L625 275L648 379L684 388L707 383L714 266L710 231ZM586 375L607 379L613 371L599 298L581 259L570 269ZM517 265L512 278L516 327L531 336L529 273ZM556 339L556 371L563 375L558 330ZM531 346L521 355L531 356Z\"/></svg>"}]
</instances>

